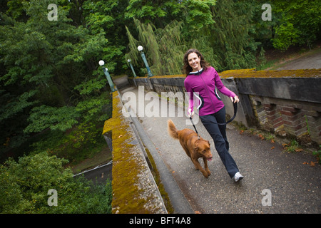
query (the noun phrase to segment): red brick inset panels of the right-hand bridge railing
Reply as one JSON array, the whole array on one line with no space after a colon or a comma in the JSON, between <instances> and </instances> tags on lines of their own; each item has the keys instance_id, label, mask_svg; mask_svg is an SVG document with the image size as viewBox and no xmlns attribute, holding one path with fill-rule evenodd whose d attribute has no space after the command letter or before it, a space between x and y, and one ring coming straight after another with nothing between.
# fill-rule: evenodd
<instances>
[{"instance_id":1,"label":"red brick inset panels of the right-hand bridge railing","mask_svg":"<svg viewBox=\"0 0 321 228\"><path fill-rule=\"evenodd\" d=\"M310 135L321 143L321 105L317 103L250 95L258 126L281 136Z\"/></svg>"}]
</instances>

